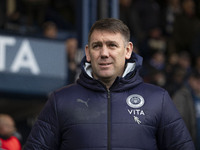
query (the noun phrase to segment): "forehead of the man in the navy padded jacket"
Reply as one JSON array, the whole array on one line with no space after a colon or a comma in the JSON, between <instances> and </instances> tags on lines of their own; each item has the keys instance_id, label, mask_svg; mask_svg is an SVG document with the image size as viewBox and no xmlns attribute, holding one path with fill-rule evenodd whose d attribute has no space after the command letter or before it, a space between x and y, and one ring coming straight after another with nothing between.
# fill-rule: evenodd
<instances>
[{"instance_id":1,"label":"forehead of the man in the navy padded jacket","mask_svg":"<svg viewBox=\"0 0 200 150\"><path fill-rule=\"evenodd\" d=\"M90 36L90 43L103 41L123 42L124 37L119 32L94 30Z\"/></svg>"}]
</instances>

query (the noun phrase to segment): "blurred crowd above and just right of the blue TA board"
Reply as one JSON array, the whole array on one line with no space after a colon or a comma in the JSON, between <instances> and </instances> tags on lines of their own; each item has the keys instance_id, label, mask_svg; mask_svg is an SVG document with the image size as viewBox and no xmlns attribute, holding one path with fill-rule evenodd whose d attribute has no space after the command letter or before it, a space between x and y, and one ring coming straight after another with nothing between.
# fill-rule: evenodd
<instances>
[{"instance_id":1,"label":"blurred crowd above and just right of the blue TA board","mask_svg":"<svg viewBox=\"0 0 200 150\"><path fill-rule=\"evenodd\" d=\"M66 45L68 79L78 76L83 51L76 36L77 10L74 0L1 0L0 33L61 40Z\"/></svg>"}]
</instances>

